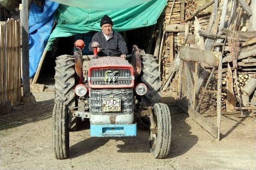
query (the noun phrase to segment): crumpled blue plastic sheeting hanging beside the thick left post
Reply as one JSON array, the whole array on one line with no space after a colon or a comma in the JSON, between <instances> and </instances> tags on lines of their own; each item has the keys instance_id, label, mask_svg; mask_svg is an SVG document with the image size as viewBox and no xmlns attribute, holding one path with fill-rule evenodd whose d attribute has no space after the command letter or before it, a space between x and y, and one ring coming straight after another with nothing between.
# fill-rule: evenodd
<instances>
[{"instance_id":1,"label":"crumpled blue plastic sheeting hanging beside the thick left post","mask_svg":"<svg viewBox=\"0 0 256 170\"><path fill-rule=\"evenodd\" d=\"M58 3L46 0L42 8L34 2L29 11L29 76L36 73L40 58L47 44L54 23Z\"/></svg>"}]
</instances>

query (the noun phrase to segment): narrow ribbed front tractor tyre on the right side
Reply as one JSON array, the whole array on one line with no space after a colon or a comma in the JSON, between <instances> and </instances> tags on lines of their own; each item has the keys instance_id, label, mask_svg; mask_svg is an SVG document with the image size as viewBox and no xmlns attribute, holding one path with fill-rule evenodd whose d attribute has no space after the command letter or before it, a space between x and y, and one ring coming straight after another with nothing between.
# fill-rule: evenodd
<instances>
[{"instance_id":1,"label":"narrow ribbed front tractor tyre on the right side","mask_svg":"<svg viewBox=\"0 0 256 170\"><path fill-rule=\"evenodd\" d=\"M157 133L150 131L149 143L150 152L154 158L166 158L170 153L171 144L171 116L166 104L157 103L154 105L154 120L157 127Z\"/></svg>"}]
</instances>

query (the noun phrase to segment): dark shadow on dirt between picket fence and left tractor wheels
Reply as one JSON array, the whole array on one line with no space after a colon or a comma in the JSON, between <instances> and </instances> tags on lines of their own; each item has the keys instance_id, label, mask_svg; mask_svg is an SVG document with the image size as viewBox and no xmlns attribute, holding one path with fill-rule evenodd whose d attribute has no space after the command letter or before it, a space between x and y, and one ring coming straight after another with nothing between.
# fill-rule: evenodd
<instances>
[{"instance_id":1,"label":"dark shadow on dirt between picket fence and left tractor wheels","mask_svg":"<svg viewBox=\"0 0 256 170\"><path fill-rule=\"evenodd\" d=\"M48 119L52 117L53 106L54 99L13 107L12 112L0 116L0 130Z\"/></svg>"}]
</instances>

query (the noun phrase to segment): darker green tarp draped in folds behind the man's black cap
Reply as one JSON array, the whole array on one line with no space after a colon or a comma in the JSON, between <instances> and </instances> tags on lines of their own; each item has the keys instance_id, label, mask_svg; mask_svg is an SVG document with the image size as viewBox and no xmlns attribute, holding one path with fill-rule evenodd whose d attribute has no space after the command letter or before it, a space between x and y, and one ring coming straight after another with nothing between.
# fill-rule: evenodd
<instances>
[{"instance_id":1,"label":"darker green tarp draped in folds behind the man's black cap","mask_svg":"<svg viewBox=\"0 0 256 170\"><path fill-rule=\"evenodd\" d=\"M130 0L130 3L133 3L133 1L136 2L136 0ZM162 10L164 10L167 1L151 0L138 6L115 11L88 10L60 4L56 11L58 24L49 37L46 50L51 49L52 43L57 37L100 31L100 20L106 14L112 18L115 31L126 31L154 25Z\"/></svg>"}]
</instances>

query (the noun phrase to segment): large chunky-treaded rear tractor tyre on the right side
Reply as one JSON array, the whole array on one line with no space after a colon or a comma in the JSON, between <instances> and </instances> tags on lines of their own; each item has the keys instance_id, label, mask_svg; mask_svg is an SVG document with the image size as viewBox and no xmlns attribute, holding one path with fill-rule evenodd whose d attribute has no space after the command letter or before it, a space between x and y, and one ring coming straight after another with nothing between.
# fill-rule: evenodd
<instances>
[{"instance_id":1,"label":"large chunky-treaded rear tractor tyre on the right side","mask_svg":"<svg viewBox=\"0 0 256 170\"><path fill-rule=\"evenodd\" d=\"M141 81L148 86L148 91L141 97L141 102L145 107L154 106L161 99L159 64L154 55L145 54L141 56L141 66ZM138 125L141 129L149 130L150 121L148 117L138 118Z\"/></svg>"}]
</instances>

